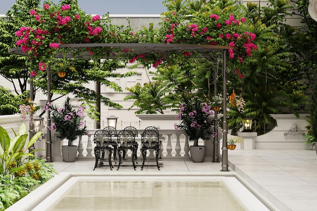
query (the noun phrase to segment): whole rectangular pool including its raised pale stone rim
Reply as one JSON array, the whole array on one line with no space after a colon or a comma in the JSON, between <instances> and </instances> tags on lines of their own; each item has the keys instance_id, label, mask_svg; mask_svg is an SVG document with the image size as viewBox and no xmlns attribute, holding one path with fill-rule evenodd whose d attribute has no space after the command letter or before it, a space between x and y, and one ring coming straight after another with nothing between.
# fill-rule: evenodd
<instances>
[{"instance_id":1,"label":"whole rectangular pool including its raised pale stone rim","mask_svg":"<svg viewBox=\"0 0 317 211\"><path fill-rule=\"evenodd\" d=\"M268 211L269 209L232 176L63 173L7 210Z\"/></svg>"}]
</instances>

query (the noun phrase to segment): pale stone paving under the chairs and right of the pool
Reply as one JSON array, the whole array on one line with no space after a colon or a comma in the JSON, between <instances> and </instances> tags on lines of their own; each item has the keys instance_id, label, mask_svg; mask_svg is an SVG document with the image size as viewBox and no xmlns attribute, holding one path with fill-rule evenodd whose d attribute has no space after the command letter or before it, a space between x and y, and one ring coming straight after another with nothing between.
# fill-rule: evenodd
<instances>
[{"instance_id":1,"label":"pale stone paving under the chairs and right of the pool","mask_svg":"<svg viewBox=\"0 0 317 211\"><path fill-rule=\"evenodd\" d=\"M248 188L263 196L272 210L317 211L317 155L314 150L241 150L228 152L229 170ZM139 158L140 159L140 158ZM164 158L163 158L164 159ZM126 161L128 162L128 161ZM130 161L128 162L130 164ZM220 172L221 162L194 163L190 159L164 159L164 167L157 170L153 162L147 162L143 171L140 164L134 171L132 165L123 164L119 171L110 171L107 165L93 171L94 159L77 159L75 162L53 162L57 172L147 172L159 173L211 173ZM256 211L256 210L252 210Z\"/></svg>"}]
</instances>

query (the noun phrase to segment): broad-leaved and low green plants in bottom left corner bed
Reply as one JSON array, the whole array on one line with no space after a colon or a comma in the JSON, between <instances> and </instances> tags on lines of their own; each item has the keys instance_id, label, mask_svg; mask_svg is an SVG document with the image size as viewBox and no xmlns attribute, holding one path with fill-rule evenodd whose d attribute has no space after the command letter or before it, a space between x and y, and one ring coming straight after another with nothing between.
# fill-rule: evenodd
<instances>
[{"instance_id":1,"label":"broad-leaved and low green plants in bottom left corner bed","mask_svg":"<svg viewBox=\"0 0 317 211\"><path fill-rule=\"evenodd\" d=\"M28 143L27 130L21 123L18 134L9 137L8 132L0 126L0 210L5 210L29 192L35 186L49 180L56 174L51 163L35 158L36 149L26 152L42 132L35 134Z\"/></svg>"}]
</instances>

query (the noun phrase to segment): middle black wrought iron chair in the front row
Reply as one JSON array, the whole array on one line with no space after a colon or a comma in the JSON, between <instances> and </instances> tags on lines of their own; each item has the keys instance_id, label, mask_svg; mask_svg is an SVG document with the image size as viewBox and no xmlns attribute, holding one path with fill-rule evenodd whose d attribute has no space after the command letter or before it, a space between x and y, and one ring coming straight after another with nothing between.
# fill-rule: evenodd
<instances>
[{"instance_id":1,"label":"middle black wrought iron chair in the front row","mask_svg":"<svg viewBox=\"0 0 317 211\"><path fill-rule=\"evenodd\" d=\"M127 150L131 150L132 152L132 164L133 164L133 168L134 170L136 170L136 166L135 166L135 162L134 162L134 158L135 158L135 154L137 153L137 143L135 141L135 134L132 131L129 130L122 130L118 133L118 155L119 155L119 165L117 170L119 170L120 165L122 163L122 157L125 151Z\"/></svg>"}]
</instances>

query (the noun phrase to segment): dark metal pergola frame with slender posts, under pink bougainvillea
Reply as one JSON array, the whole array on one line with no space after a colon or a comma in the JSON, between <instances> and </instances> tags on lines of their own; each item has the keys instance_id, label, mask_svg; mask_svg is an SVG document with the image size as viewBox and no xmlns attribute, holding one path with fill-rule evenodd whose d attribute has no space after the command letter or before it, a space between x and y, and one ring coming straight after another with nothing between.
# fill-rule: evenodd
<instances>
[{"instance_id":1,"label":"dark metal pergola frame with slender posts, under pink bougainvillea","mask_svg":"<svg viewBox=\"0 0 317 211\"><path fill-rule=\"evenodd\" d=\"M143 54L143 55L154 55L160 54L164 56L170 56L175 54L182 54L184 51L198 53L196 58L206 58L215 64L219 64L222 59L222 76L223 76L223 93L227 90L227 50L235 49L234 47L228 46L213 46L213 45L193 45L193 44L140 44L140 43L95 43L95 44L62 44L59 46L60 49L67 48L67 53L58 53L55 55L56 58L77 58L77 59L92 59L92 55L86 51L86 48L100 48L103 51L103 56L100 59L112 59L117 58L119 53L122 55L131 56L131 54ZM80 53L78 53L78 50ZM129 51L127 51L129 50ZM10 54L27 56L21 48L11 48L8 50ZM77 52L75 55L73 52ZM218 67L214 70L215 74L215 95L217 95L217 77ZM48 102L51 102L51 68L50 65L47 67L47 81L48 81ZM32 86L32 84L31 84ZM226 108L226 98L223 98L223 108ZM47 128L51 126L51 114L48 110L47 115ZM215 126L217 128L217 112L215 112ZM228 170L228 146L227 146L227 120L226 120L226 109L223 109L223 125L222 125L222 172ZM219 142L218 138L214 139L214 155L213 162L219 162ZM52 141L51 131L47 133L47 161L52 162Z\"/></svg>"}]
</instances>

